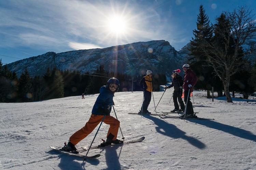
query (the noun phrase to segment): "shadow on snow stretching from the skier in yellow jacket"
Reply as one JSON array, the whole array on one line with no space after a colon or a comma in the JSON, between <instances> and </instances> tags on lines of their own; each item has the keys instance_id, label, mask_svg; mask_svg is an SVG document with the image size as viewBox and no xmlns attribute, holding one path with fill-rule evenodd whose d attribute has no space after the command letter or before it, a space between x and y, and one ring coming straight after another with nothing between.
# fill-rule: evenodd
<instances>
[{"instance_id":1,"label":"shadow on snow stretching from the skier in yellow jacket","mask_svg":"<svg viewBox=\"0 0 256 170\"><path fill-rule=\"evenodd\" d=\"M199 149L204 149L205 148L205 144L202 143L201 141L199 141L198 139L194 138L194 137L190 137L185 135L186 133L182 130L180 130L179 128L177 128L175 125L170 124L162 119L158 119L156 117L153 116L147 116L144 115L144 117L151 119L152 121L154 121L154 123L157 125L156 127L156 131L162 135L165 136L169 136L171 138L182 138L187 140L191 145L199 148Z\"/></svg>"}]
</instances>

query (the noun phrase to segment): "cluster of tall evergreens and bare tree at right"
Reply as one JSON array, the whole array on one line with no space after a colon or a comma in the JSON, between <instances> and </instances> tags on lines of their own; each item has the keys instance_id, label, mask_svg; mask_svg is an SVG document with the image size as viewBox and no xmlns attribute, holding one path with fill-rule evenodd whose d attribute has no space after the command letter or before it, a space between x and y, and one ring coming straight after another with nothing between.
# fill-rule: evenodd
<instances>
[{"instance_id":1,"label":"cluster of tall evergreens and bare tree at right","mask_svg":"<svg viewBox=\"0 0 256 170\"><path fill-rule=\"evenodd\" d=\"M256 37L254 15L247 7L239 7L233 12L223 12L210 24L203 5L199 7L197 29L188 49L190 67L196 73L195 88L218 92L218 97L227 96L232 102L230 91L241 92L245 99L256 91L256 61L250 61L249 54L256 53L255 44L245 51L242 48L248 38ZM254 56L255 60L255 56Z\"/></svg>"}]
</instances>

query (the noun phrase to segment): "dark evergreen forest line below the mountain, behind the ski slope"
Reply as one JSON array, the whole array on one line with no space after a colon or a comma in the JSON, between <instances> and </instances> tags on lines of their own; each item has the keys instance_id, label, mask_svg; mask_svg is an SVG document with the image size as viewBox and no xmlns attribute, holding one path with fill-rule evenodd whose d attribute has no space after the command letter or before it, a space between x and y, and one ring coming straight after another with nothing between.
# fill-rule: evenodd
<instances>
[{"instance_id":1,"label":"dark evergreen forest line below the mountain, behind the ski slope","mask_svg":"<svg viewBox=\"0 0 256 170\"><path fill-rule=\"evenodd\" d=\"M82 74L79 71L58 70L47 68L40 77L30 77L26 69L18 78L15 71L11 72L0 60L0 102L33 102L84 94L98 94L101 86L106 85L111 77L120 81L118 91L140 91L139 81L144 75L108 72L103 66L96 72ZM132 84L133 83L133 84ZM158 91L160 85L167 83L165 74L154 74L153 86ZM132 90L133 87L133 90Z\"/></svg>"}]
</instances>

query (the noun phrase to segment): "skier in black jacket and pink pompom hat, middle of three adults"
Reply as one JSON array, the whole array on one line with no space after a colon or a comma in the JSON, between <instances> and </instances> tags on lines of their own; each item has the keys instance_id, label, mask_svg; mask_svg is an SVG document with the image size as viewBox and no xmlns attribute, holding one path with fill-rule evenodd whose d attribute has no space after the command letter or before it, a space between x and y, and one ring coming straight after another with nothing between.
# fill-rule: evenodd
<instances>
[{"instance_id":1,"label":"skier in black jacket and pink pompom hat, middle of three adults","mask_svg":"<svg viewBox=\"0 0 256 170\"><path fill-rule=\"evenodd\" d=\"M174 88L174 91L173 91L173 103L174 103L174 109L171 111L171 112L184 112L185 110L185 105L182 101L182 86L183 86L183 79L182 77L180 76L180 73L181 70L180 69L177 69L177 70L174 70L172 73L172 84L168 87L165 87L165 90L167 88L171 88L173 87ZM179 109L179 104L177 102L177 99L181 105L181 109Z\"/></svg>"}]
</instances>

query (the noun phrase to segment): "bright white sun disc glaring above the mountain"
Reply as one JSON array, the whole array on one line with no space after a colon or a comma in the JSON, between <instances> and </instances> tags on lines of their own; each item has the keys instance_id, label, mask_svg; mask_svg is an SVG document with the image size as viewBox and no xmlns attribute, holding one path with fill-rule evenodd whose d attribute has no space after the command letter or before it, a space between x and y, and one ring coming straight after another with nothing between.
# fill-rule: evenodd
<instances>
[{"instance_id":1,"label":"bright white sun disc glaring above the mountain","mask_svg":"<svg viewBox=\"0 0 256 170\"><path fill-rule=\"evenodd\" d=\"M120 16L110 18L108 21L108 28L110 32L115 34L124 34L126 31L126 21Z\"/></svg>"}]
</instances>

